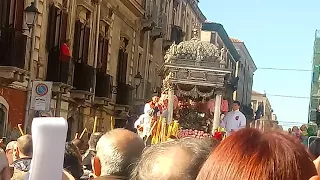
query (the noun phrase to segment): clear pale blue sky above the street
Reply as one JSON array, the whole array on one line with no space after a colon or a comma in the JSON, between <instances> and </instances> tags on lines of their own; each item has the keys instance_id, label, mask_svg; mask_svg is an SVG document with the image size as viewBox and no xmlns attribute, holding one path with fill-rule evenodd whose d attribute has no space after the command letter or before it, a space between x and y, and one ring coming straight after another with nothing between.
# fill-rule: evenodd
<instances>
[{"instance_id":1,"label":"clear pale blue sky above the street","mask_svg":"<svg viewBox=\"0 0 320 180\"><path fill-rule=\"evenodd\" d=\"M257 67L311 69L319 0L200 0L199 6L208 20L245 42ZM253 90L309 97L310 79L311 72L257 70ZM268 98L284 127L308 121L308 99Z\"/></svg>"}]
</instances>

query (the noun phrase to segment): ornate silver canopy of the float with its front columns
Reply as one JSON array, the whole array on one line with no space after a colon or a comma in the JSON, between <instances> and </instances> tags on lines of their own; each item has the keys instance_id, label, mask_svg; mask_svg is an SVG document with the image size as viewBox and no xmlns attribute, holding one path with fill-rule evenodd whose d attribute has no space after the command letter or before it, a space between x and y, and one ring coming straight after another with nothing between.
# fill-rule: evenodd
<instances>
[{"instance_id":1,"label":"ornate silver canopy of the float with its front columns","mask_svg":"<svg viewBox=\"0 0 320 180\"><path fill-rule=\"evenodd\" d=\"M233 69L228 67L228 50L201 41L196 29L191 40L171 45L159 71L163 77L163 92L169 96L167 121L173 119L175 93L205 98L215 95L213 129L216 129L220 122L222 94Z\"/></svg>"}]
</instances>

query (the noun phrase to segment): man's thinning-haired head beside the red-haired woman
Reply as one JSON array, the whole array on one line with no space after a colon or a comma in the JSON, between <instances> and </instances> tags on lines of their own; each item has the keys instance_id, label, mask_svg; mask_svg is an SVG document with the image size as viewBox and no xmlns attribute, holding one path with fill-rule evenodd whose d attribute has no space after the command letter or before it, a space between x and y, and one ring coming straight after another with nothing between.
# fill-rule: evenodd
<instances>
[{"instance_id":1,"label":"man's thinning-haired head beside the red-haired woman","mask_svg":"<svg viewBox=\"0 0 320 180\"><path fill-rule=\"evenodd\" d=\"M206 140L186 138L153 145L135 167L133 180L193 180L213 147Z\"/></svg>"}]
</instances>

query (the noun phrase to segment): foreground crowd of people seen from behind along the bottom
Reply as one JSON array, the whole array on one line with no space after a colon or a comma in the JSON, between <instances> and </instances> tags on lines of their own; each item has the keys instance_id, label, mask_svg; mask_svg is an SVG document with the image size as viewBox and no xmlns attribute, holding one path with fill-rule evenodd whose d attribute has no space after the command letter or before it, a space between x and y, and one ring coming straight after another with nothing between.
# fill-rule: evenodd
<instances>
[{"instance_id":1,"label":"foreground crowd of people seen from behind along the bottom","mask_svg":"<svg viewBox=\"0 0 320 180\"><path fill-rule=\"evenodd\" d=\"M114 129L93 133L84 151L85 146L79 139L65 144L62 179L320 179L320 158L280 131L243 128L221 142L209 137L171 138L146 147L136 133ZM1 179L25 179L32 153L31 135L8 143L0 153Z\"/></svg>"}]
</instances>

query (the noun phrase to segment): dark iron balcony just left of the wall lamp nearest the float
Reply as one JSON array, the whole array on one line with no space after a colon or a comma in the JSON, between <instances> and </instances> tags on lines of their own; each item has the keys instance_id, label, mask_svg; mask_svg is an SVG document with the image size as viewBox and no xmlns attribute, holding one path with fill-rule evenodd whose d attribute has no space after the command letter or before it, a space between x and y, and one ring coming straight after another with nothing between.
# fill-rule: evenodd
<instances>
[{"instance_id":1,"label":"dark iron balcony just left of the wall lamp nearest the float","mask_svg":"<svg viewBox=\"0 0 320 180\"><path fill-rule=\"evenodd\" d=\"M129 106L132 103L133 87L129 84L119 83L117 86L117 100L118 105Z\"/></svg>"}]
</instances>

